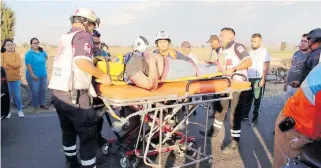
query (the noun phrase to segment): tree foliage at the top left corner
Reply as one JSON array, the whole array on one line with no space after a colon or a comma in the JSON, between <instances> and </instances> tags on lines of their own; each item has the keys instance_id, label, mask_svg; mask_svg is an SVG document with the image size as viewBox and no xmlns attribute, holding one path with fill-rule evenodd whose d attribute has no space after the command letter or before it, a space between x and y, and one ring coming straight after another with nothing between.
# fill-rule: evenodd
<instances>
[{"instance_id":1,"label":"tree foliage at the top left corner","mask_svg":"<svg viewBox=\"0 0 321 168\"><path fill-rule=\"evenodd\" d=\"M15 35L16 17L14 11L1 1L1 41Z\"/></svg>"}]
</instances>

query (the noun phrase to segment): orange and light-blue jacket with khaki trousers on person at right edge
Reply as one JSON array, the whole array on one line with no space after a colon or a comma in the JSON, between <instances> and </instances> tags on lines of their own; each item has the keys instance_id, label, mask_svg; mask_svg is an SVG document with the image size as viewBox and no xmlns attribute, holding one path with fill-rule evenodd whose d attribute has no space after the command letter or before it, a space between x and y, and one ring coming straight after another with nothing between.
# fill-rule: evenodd
<instances>
[{"instance_id":1,"label":"orange and light-blue jacket with khaki trousers on person at right edge","mask_svg":"<svg viewBox=\"0 0 321 168\"><path fill-rule=\"evenodd\" d=\"M319 63L290 97L275 124L273 167L302 152L302 147L321 139L321 63Z\"/></svg>"}]
</instances>

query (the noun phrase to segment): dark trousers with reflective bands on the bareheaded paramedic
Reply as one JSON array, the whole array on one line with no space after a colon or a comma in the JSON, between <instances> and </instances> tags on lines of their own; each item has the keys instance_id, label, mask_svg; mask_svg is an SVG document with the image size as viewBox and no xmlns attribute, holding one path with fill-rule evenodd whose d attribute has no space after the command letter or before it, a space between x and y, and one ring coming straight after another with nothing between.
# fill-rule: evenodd
<instances>
[{"instance_id":1,"label":"dark trousers with reflective bands on the bareheaded paramedic","mask_svg":"<svg viewBox=\"0 0 321 168\"><path fill-rule=\"evenodd\" d=\"M214 127L216 130L222 128L226 113L230 107L231 137L232 140L236 141L239 141L241 136L244 94L245 92L233 93L232 100L221 100L213 104L215 111Z\"/></svg>"}]
</instances>

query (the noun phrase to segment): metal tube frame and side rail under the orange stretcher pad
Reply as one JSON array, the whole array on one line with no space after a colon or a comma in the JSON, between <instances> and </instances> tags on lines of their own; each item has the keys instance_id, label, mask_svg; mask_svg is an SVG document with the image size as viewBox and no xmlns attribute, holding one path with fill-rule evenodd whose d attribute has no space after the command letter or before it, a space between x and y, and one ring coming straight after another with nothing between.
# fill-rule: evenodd
<instances>
[{"instance_id":1,"label":"metal tube frame and side rail under the orange stretcher pad","mask_svg":"<svg viewBox=\"0 0 321 168\"><path fill-rule=\"evenodd\" d=\"M237 75L237 74L235 74L235 75ZM231 78L233 78L233 76ZM194 94L194 95L189 94L189 87L193 82L208 81L208 80L222 80L222 79L227 80L227 82L228 82L228 87L224 91L212 92L212 93L201 93L201 94ZM236 89L236 90L234 89L234 90L232 90L230 78L228 78L228 77L213 77L213 78L208 78L208 79L196 79L196 80L188 81L188 83L186 85L186 93L183 96L166 95L166 96L154 96L154 97L147 97L147 98L127 99L127 100L114 100L114 99L109 99L104 96L101 96L100 98L102 99L102 101L105 104L105 107L107 108L106 112L109 113L110 115L114 116L114 118L118 119L120 122L120 123L118 123L118 126L121 126L121 127L124 126L129 121L129 119L134 116L140 116L141 121L144 120L144 118L147 114L149 114L149 115L152 114L153 116L159 116L159 119L158 119L158 117L153 117L152 124L150 125L151 131L149 132L149 135L145 135L146 124L144 124L144 122L141 122L141 125L139 128L139 130L140 130L139 135L137 137L137 141L136 141L136 145L135 145L135 155L137 158L143 159L144 163L147 166L160 168L161 164L162 164L161 163L161 160L162 160L161 153L168 152L169 149L172 149L173 151L178 152L181 157L185 157L186 159L191 160L191 162L187 162L184 165L175 166L175 168L178 168L178 167L186 167L186 166L194 165L194 164L206 161L206 160L209 162L209 164L212 162L212 155L211 154L208 155L206 153L207 138L204 138L203 151L198 151L197 149L194 149L187 144L188 125L195 124L195 125L203 127L204 130L207 131L208 130L209 108L210 108L209 104L212 102L215 102L215 101L230 100L233 98L232 93L242 92L242 91L246 91L249 89L250 89L250 87L248 89ZM227 96L215 97L215 95L221 95L221 94L226 94ZM176 104L170 104L170 105L163 104L158 107L152 107L153 104L160 103L160 102L166 102L166 101L176 101ZM197 107L203 103L207 103L205 125L190 122L189 117L193 114L193 112L197 109ZM115 117L116 113L115 113L114 109L112 108L112 106L119 107L119 106L129 106L129 105L142 105L143 109L128 115L126 118ZM190 105L192 105L191 109L189 108ZM183 106L185 106L184 118L172 130L169 131L170 133L167 132L165 137L163 138L163 135L162 135L162 132L164 129L163 126L165 126L169 122L170 119L172 119L176 114L178 114L178 112L181 111L181 108ZM169 117L167 117L167 119L164 119L164 121L163 121L162 118L164 116L164 110L170 109L170 108L173 108L173 111L170 113ZM165 143L167 140L169 140L170 137L176 131L178 131L180 126L182 126L183 124L186 124L185 135L184 135L185 142L183 144L175 143L172 146L162 148L162 144ZM143 129L143 131L142 131L142 129ZM143 135L141 136L142 132L143 132ZM150 151L149 148L151 145L152 137L157 132L161 132L159 134L159 142L162 142L162 143L159 143L158 145L156 145L155 150ZM146 142L145 142L146 146L145 146L145 143L143 143L143 149L138 150L137 149L138 143L142 140L144 141L144 139L146 140ZM193 139L193 137L192 137L192 139ZM143 151L143 155L142 155L142 151ZM186 154L186 151L195 152L199 159L195 159L191 156L188 156ZM160 154L157 164L148 158L150 153L155 153L155 152Z\"/></svg>"}]
</instances>

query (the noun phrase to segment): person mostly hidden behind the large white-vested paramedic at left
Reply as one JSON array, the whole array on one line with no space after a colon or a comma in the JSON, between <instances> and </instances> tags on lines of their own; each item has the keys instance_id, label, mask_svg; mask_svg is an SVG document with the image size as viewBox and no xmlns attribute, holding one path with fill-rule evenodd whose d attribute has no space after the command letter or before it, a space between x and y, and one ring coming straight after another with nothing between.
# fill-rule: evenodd
<instances>
[{"instance_id":1,"label":"person mostly hidden behind the large white-vested paramedic at left","mask_svg":"<svg viewBox=\"0 0 321 168\"><path fill-rule=\"evenodd\" d=\"M101 49L100 47L100 33L97 30L93 31L93 40L94 40L94 57L97 56L108 56L107 53ZM99 101L100 99L97 98L95 99L95 101ZM102 136L101 131L103 129L103 125L104 125L104 118L100 117L99 120L97 121L97 132L98 132L98 146L103 146L107 140Z\"/></svg>"}]
</instances>

